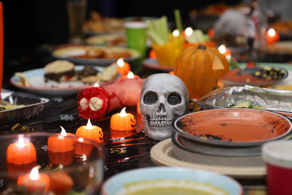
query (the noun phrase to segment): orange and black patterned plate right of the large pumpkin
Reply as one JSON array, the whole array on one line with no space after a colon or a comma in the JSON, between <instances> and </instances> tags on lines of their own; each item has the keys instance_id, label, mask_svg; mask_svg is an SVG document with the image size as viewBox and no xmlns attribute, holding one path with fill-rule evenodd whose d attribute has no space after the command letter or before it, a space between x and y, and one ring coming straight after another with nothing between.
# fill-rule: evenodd
<instances>
[{"instance_id":1,"label":"orange and black patterned plate right of the large pumpkin","mask_svg":"<svg viewBox=\"0 0 292 195\"><path fill-rule=\"evenodd\" d=\"M255 66L236 68L227 73L221 80L226 86L262 86L276 84L288 76L285 68L277 66Z\"/></svg>"}]
</instances>

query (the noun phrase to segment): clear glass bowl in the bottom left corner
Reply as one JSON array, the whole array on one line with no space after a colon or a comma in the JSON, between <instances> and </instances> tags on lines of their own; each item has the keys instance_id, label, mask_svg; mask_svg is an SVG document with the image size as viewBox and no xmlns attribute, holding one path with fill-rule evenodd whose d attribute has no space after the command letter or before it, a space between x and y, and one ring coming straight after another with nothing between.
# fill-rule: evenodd
<instances>
[{"instance_id":1,"label":"clear glass bowl in the bottom left corner","mask_svg":"<svg viewBox=\"0 0 292 195\"><path fill-rule=\"evenodd\" d=\"M29 164L7 162L8 146L19 137L32 143L36 161ZM0 194L99 194L103 181L103 148L89 139L68 136L74 143L70 152L48 151L48 138L60 137L53 133L26 133L0 137ZM35 173L36 172L36 173Z\"/></svg>"}]
</instances>

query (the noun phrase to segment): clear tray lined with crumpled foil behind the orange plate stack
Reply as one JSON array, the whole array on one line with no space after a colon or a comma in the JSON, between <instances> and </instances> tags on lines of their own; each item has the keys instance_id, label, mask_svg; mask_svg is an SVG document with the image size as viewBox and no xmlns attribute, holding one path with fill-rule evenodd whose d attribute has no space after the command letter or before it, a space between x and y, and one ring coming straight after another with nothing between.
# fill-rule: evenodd
<instances>
[{"instance_id":1,"label":"clear tray lined with crumpled foil behind the orange plate stack","mask_svg":"<svg viewBox=\"0 0 292 195\"><path fill-rule=\"evenodd\" d=\"M292 112L292 91L254 86L223 87L210 92L198 100L198 105L206 109L230 108L240 101L250 100L273 111Z\"/></svg>"}]
</instances>

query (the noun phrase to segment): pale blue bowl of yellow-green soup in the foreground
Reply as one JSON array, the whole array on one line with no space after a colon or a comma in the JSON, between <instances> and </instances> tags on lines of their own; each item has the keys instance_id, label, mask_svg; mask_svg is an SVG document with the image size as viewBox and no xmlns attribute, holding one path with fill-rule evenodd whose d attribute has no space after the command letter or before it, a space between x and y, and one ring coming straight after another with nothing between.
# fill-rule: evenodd
<instances>
[{"instance_id":1,"label":"pale blue bowl of yellow-green soup in the foreground","mask_svg":"<svg viewBox=\"0 0 292 195\"><path fill-rule=\"evenodd\" d=\"M205 170L174 167L149 167L121 172L104 182L101 194L140 194L141 189L149 194L162 194L162 191L153 191L154 187L161 187L164 192L168 189L168 194L177 194L175 187L179 188L176 190L189 188L208 191L210 195L243 194L241 185L231 177ZM193 191L193 194L197 193Z\"/></svg>"}]
</instances>

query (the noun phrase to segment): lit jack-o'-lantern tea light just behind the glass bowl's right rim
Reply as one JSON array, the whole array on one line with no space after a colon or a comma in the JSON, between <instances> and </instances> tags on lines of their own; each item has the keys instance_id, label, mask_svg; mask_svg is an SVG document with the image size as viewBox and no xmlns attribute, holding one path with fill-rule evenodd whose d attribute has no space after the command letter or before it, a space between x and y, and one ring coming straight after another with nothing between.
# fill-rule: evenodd
<instances>
[{"instance_id":1,"label":"lit jack-o'-lantern tea light just behind the glass bowl's right rim","mask_svg":"<svg viewBox=\"0 0 292 195\"><path fill-rule=\"evenodd\" d=\"M76 131L77 137L87 138L98 143L103 142L103 131L96 125L91 125L90 119L88 119L87 125L79 127Z\"/></svg>"}]
</instances>

